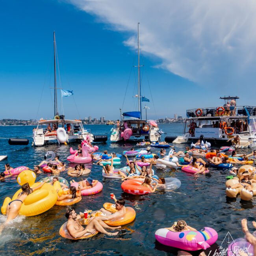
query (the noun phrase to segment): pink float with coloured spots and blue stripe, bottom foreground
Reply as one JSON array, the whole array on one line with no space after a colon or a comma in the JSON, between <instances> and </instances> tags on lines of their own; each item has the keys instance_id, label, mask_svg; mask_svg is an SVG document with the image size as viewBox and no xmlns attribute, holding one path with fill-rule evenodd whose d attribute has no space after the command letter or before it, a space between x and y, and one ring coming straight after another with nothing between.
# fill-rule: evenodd
<instances>
[{"instance_id":1,"label":"pink float with coloured spots and blue stripe, bottom foreground","mask_svg":"<svg viewBox=\"0 0 256 256\"><path fill-rule=\"evenodd\" d=\"M160 228L155 233L156 240L167 246L182 250L205 250L213 245L218 234L213 228L204 227L200 231L173 232L167 228Z\"/></svg>"}]
</instances>

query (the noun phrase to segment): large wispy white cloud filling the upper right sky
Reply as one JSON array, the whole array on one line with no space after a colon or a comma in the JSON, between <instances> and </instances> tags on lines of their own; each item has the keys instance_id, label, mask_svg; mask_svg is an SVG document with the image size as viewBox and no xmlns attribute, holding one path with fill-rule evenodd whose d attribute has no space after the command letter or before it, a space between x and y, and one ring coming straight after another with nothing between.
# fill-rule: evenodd
<instances>
[{"instance_id":1,"label":"large wispy white cloud filling the upper right sky","mask_svg":"<svg viewBox=\"0 0 256 256\"><path fill-rule=\"evenodd\" d=\"M156 67L191 81L226 85L249 82L256 73L256 2L253 0L67 0L96 15L124 42L160 59Z\"/></svg>"}]
</instances>

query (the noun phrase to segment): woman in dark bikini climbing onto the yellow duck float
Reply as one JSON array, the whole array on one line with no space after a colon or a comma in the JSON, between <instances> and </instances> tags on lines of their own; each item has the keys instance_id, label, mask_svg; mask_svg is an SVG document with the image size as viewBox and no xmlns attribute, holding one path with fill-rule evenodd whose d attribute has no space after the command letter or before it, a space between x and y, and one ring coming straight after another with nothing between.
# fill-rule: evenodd
<instances>
[{"instance_id":1,"label":"woman in dark bikini climbing onto the yellow duck float","mask_svg":"<svg viewBox=\"0 0 256 256\"><path fill-rule=\"evenodd\" d=\"M6 207L7 220L5 224L9 223L11 220L17 217L17 215L19 214L20 207L27 198L27 196L36 191L37 189L43 187L44 184L45 182L42 182L39 186L33 188L30 188L28 183L22 185L22 192L19 193L17 199L9 202L9 204Z\"/></svg>"}]
</instances>

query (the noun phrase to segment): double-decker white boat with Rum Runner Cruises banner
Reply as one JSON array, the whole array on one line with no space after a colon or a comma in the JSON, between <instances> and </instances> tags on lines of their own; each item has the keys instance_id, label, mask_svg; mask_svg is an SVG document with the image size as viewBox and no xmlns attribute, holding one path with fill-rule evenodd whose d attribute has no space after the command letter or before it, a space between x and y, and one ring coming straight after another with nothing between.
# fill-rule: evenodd
<instances>
[{"instance_id":1,"label":"double-decker white boat with Rum Runner Cruises banner","mask_svg":"<svg viewBox=\"0 0 256 256\"><path fill-rule=\"evenodd\" d=\"M204 138L212 145L226 146L238 135L240 142L237 148L256 147L256 107L227 106L226 100L235 101L238 96L220 99L225 100L221 107L188 109L183 135L174 139L173 143L191 143Z\"/></svg>"}]
</instances>

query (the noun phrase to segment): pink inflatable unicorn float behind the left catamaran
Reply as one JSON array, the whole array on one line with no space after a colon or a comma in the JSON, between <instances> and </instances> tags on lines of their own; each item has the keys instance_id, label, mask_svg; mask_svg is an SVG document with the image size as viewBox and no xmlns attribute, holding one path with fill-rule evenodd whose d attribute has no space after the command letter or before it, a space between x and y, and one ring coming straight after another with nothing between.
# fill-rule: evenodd
<instances>
[{"instance_id":1,"label":"pink inflatable unicorn float behind the left catamaran","mask_svg":"<svg viewBox=\"0 0 256 256\"><path fill-rule=\"evenodd\" d=\"M70 147L69 151L71 155L67 158L68 161L70 161L71 163L88 163L92 160L90 154L99 149L98 146L91 147L87 140L82 141L81 146L82 156L78 156L78 151L73 150L73 148Z\"/></svg>"}]
</instances>

